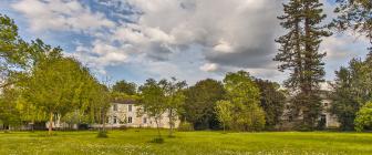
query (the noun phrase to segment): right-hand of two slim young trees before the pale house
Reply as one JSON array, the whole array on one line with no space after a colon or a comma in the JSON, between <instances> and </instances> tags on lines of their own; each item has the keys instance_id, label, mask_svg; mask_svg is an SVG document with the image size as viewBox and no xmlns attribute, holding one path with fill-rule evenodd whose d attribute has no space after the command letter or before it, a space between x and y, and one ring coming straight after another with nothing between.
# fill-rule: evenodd
<instances>
[{"instance_id":1,"label":"right-hand of two slim young trees before the pale house","mask_svg":"<svg viewBox=\"0 0 372 155\"><path fill-rule=\"evenodd\" d=\"M162 80L158 83L165 93L165 105L168 112L169 118L169 136L173 136L173 128L178 115L184 111L183 105L185 103L184 89L187 85L186 81L177 81L176 78L172 78L170 81Z\"/></svg>"}]
</instances>

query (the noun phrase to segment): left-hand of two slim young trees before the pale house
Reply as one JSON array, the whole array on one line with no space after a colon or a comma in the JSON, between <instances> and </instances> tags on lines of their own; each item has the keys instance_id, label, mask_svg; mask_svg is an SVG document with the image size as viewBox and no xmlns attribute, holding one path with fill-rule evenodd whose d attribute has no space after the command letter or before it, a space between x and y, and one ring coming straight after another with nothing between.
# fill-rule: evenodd
<instances>
[{"instance_id":1,"label":"left-hand of two slim young trees before the pale house","mask_svg":"<svg viewBox=\"0 0 372 155\"><path fill-rule=\"evenodd\" d=\"M138 114L146 114L149 117L153 117L156 123L156 128L158 133L158 138L162 138L159 123L163 114L166 112L166 97L163 87L153 80L148 79L146 82L140 86L141 100L140 100L140 110Z\"/></svg>"}]
</instances>

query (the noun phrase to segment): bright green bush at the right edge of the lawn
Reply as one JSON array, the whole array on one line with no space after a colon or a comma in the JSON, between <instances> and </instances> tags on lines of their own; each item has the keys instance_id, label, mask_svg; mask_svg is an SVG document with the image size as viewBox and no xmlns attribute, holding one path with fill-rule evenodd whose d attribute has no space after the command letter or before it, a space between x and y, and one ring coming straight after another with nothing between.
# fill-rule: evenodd
<instances>
[{"instance_id":1,"label":"bright green bush at the right edge of the lawn","mask_svg":"<svg viewBox=\"0 0 372 155\"><path fill-rule=\"evenodd\" d=\"M372 102L365 105L356 113L355 130L361 132L365 128L372 128Z\"/></svg>"}]
</instances>

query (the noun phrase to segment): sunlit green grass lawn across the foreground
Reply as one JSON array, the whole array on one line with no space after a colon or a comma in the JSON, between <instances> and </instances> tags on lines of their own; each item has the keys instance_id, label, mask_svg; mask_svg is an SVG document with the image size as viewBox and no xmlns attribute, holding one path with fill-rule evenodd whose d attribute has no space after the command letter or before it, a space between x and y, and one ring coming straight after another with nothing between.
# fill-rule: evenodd
<instances>
[{"instance_id":1,"label":"sunlit green grass lawn across the foreground","mask_svg":"<svg viewBox=\"0 0 372 155\"><path fill-rule=\"evenodd\" d=\"M166 135L167 131L163 131ZM177 132L163 144L151 143L154 130L97 132L0 133L0 154L72 155L362 155L372 154L372 134L368 133L228 133Z\"/></svg>"}]
</instances>

